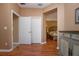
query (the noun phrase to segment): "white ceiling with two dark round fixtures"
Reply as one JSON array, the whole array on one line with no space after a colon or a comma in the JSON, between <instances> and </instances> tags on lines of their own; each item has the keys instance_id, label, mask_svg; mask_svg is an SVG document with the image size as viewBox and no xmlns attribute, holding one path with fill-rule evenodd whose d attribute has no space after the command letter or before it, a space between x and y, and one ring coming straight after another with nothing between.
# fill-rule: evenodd
<instances>
[{"instance_id":1,"label":"white ceiling with two dark round fixtures","mask_svg":"<svg viewBox=\"0 0 79 59\"><path fill-rule=\"evenodd\" d=\"M44 8L50 4L51 3L19 3L18 5L21 8Z\"/></svg>"}]
</instances>

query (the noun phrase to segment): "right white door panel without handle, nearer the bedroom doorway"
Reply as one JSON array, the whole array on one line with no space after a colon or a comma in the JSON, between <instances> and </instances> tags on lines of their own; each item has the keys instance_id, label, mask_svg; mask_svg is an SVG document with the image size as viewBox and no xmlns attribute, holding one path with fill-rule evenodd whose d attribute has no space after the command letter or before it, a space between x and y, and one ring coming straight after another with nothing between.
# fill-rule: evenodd
<instances>
[{"instance_id":1,"label":"right white door panel without handle, nearer the bedroom doorway","mask_svg":"<svg viewBox=\"0 0 79 59\"><path fill-rule=\"evenodd\" d=\"M32 43L41 43L42 19L41 16L32 17Z\"/></svg>"}]
</instances>

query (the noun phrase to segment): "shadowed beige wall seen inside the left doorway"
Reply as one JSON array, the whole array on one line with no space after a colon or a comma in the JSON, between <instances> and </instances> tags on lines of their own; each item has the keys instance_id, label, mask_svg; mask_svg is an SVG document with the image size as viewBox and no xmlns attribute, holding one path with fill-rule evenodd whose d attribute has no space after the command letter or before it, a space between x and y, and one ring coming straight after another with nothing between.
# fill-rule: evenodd
<instances>
[{"instance_id":1,"label":"shadowed beige wall seen inside the left doorway","mask_svg":"<svg viewBox=\"0 0 79 59\"><path fill-rule=\"evenodd\" d=\"M13 15L13 42L19 42L19 17Z\"/></svg>"}]
</instances>

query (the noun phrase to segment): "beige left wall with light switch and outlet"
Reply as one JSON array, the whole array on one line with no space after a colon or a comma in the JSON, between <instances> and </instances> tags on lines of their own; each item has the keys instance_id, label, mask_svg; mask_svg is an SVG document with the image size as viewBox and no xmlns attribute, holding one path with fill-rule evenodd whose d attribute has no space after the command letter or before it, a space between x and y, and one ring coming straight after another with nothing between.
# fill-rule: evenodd
<instances>
[{"instance_id":1,"label":"beige left wall with light switch and outlet","mask_svg":"<svg viewBox=\"0 0 79 59\"><path fill-rule=\"evenodd\" d=\"M11 39L11 9L19 12L16 4L0 3L0 49L10 49L12 47ZM7 26L7 30L4 30Z\"/></svg>"}]
</instances>

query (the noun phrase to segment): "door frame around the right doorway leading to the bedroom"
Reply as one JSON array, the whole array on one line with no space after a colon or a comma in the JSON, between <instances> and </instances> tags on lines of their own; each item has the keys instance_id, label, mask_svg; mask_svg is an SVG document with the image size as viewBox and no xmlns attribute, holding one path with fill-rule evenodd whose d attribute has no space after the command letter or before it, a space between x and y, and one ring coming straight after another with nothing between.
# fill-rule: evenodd
<instances>
[{"instance_id":1,"label":"door frame around the right doorway leading to the bedroom","mask_svg":"<svg viewBox=\"0 0 79 59\"><path fill-rule=\"evenodd\" d=\"M56 49L59 49L58 8L54 8L54 9L57 9L57 47L56 47ZM54 9L51 9L51 10L54 10ZM47 11L47 12L49 12L49 11ZM47 12L45 12L45 13L47 13ZM43 30L43 39L45 39L45 41L43 42L43 44L47 43L47 41L46 41L46 27L45 27L46 20L45 20L45 16L44 16L45 13L43 13L43 29L45 29L45 32Z\"/></svg>"}]
</instances>

